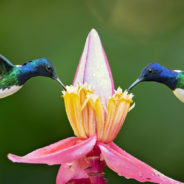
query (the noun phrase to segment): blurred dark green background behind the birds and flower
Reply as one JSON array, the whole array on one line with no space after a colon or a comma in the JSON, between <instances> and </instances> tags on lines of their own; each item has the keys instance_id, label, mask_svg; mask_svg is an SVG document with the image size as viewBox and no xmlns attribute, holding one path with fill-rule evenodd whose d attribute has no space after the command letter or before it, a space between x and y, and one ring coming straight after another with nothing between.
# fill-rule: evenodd
<instances>
[{"instance_id":1,"label":"blurred dark green background behind the birds and flower","mask_svg":"<svg viewBox=\"0 0 184 184\"><path fill-rule=\"evenodd\" d=\"M109 59L115 86L126 89L141 69L159 62L184 70L183 0L0 1L0 53L14 64L49 58L71 84L88 32L95 28ZM157 83L133 90L136 108L115 142L162 173L184 181L184 104ZM1 99L0 183L55 183L58 166L14 164L24 155L73 136L61 87L38 77ZM108 168L109 183L131 183Z\"/></svg>"}]
</instances>

